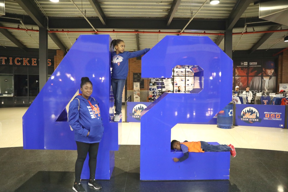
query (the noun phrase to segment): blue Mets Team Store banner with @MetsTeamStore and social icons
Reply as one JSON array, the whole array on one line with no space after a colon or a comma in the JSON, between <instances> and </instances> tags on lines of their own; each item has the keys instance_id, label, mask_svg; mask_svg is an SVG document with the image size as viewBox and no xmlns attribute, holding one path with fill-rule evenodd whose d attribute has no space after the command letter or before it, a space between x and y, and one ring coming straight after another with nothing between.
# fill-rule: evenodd
<instances>
[{"instance_id":1,"label":"blue Mets Team Store banner with @MetsTeamStore and social icons","mask_svg":"<svg viewBox=\"0 0 288 192\"><path fill-rule=\"evenodd\" d=\"M285 105L236 105L235 125L255 127L285 126Z\"/></svg>"}]
</instances>

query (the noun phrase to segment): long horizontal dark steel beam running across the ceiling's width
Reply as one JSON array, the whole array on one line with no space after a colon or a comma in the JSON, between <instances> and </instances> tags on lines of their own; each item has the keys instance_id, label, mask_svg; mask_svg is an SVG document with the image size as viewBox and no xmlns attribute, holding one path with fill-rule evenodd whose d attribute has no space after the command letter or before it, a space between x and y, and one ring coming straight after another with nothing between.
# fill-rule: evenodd
<instances>
[{"instance_id":1,"label":"long horizontal dark steel beam running across the ceiling's width","mask_svg":"<svg viewBox=\"0 0 288 192\"><path fill-rule=\"evenodd\" d=\"M24 24L27 25L37 25L29 16L23 16L18 14L5 15L11 18L20 18L23 20ZM107 18L107 25L103 25L99 18L89 18L89 21L97 29L133 29L133 30L181 30L183 26L187 24L187 19L173 19L171 24L167 26L166 19L145 19L145 18ZM239 19L234 28L243 28L245 22L260 22L265 21L259 18L246 18ZM18 20L1 18L0 22L4 23L15 23L20 24ZM268 25L278 25L274 22L265 23L253 23L247 26L268 26ZM213 19L193 19L185 30L203 30L203 31L225 31L226 30L225 20L213 20ZM49 28L50 29L91 29L91 26L86 22L84 18L59 18L59 17L49 17Z\"/></svg>"}]
</instances>

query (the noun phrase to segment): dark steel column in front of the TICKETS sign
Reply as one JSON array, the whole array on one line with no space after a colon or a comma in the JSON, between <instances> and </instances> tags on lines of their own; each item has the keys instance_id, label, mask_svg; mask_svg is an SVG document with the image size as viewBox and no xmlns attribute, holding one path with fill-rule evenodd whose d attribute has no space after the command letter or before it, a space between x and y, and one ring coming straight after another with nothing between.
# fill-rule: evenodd
<instances>
[{"instance_id":1,"label":"dark steel column in front of the TICKETS sign","mask_svg":"<svg viewBox=\"0 0 288 192\"><path fill-rule=\"evenodd\" d=\"M39 27L39 90L48 80L48 31Z\"/></svg>"}]
</instances>

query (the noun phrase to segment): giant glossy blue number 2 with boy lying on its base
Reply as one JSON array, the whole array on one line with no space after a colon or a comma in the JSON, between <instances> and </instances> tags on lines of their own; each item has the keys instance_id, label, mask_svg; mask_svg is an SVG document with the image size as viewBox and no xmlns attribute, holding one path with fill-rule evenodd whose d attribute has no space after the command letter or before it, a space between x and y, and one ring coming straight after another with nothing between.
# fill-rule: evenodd
<instances>
[{"instance_id":1,"label":"giant glossy blue number 2 with boy lying on its base","mask_svg":"<svg viewBox=\"0 0 288 192\"><path fill-rule=\"evenodd\" d=\"M141 113L140 179L229 179L230 152L190 153L175 163L170 142L177 123L208 122L231 101L232 60L209 37L166 36L142 57L141 76L171 78L177 65L194 72L194 89L164 93Z\"/></svg>"}]
</instances>

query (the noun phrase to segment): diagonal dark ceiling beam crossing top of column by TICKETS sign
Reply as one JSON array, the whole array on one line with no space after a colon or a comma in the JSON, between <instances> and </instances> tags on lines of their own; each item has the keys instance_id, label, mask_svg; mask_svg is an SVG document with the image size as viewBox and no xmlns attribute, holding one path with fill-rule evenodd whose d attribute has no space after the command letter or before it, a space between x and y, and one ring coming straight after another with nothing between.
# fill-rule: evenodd
<instances>
[{"instance_id":1,"label":"diagonal dark ceiling beam crossing top of column by TICKETS sign","mask_svg":"<svg viewBox=\"0 0 288 192\"><path fill-rule=\"evenodd\" d=\"M39 8L30 0L15 0L22 9L32 18L32 20L42 28L47 28L46 18L45 16L39 11ZM25 22L25 21L24 21ZM54 41L54 43L64 52L67 52L67 48L60 39L57 37L56 34L48 34L49 37Z\"/></svg>"}]
</instances>

